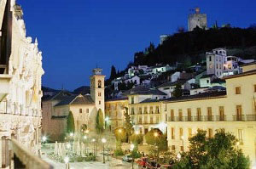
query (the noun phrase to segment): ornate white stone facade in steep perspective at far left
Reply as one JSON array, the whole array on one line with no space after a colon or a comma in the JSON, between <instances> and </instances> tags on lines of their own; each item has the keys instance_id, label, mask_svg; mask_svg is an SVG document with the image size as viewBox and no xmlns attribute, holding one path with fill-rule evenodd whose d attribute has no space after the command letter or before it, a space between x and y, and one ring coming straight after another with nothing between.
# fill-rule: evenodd
<instances>
[{"instance_id":1,"label":"ornate white stone facade in steep perspective at far left","mask_svg":"<svg viewBox=\"0 0 256 169\"><path fill-rule=\"evenodd\" d=\"M15 0L0 1L1 168L13 168L13 159L31 168L29 161L40 161L42 52L26 37L22 14Z\"/></svg>"}]
</instances>

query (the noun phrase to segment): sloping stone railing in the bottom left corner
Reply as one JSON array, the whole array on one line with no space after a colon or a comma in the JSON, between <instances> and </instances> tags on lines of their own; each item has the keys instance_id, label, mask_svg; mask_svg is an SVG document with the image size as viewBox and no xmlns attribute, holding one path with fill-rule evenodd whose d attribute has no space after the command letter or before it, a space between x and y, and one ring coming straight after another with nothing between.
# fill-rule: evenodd
<instances>
[{"instance_id":1,"label":"sloping stone railing in the bottom left corner","mask_svg":"<svg viewBox=\"0 0 256 169\"><path fill-rule=\"evenodd\" d=\"M40 159L37 155L33 155L15 139L12 139L10 142L15 156L17 156L26 168L53 169L53 166Z\"/></svg>"}]
</instances>

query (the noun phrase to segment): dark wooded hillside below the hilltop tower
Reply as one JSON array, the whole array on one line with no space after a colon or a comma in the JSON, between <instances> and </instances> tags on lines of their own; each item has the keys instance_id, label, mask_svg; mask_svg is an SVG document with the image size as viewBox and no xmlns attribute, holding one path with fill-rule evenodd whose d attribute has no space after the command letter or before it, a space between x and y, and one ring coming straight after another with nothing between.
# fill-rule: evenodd
<instances>
[{"instance_id":1,"label":"dark wooded hillside below the hilltop tower","mask_svg":"<svg viewBox=\"0 0 256 169\"><path fill-rule=\"evenodd\" d=\"M212 48L227 48L229 55L256 59L255 28L221 28L177 33L157 48L151 44L146 52L134 55L134 65L175 64L191 65L205 59Z\"/></svg>"}]
</instances>

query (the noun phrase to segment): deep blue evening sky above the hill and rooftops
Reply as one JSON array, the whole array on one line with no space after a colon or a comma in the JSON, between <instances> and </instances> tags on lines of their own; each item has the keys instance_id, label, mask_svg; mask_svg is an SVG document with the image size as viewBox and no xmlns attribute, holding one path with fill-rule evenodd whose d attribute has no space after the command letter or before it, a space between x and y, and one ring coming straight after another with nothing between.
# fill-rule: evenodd
<instances>
[{"instance_id":1,"label":"deep blue evening sky above the hill and rooftops","mask_svg":"<svg viewBox=\"0 0 256 169\"><path fill-rule=\"evenodd\" d=\"M89 85L96 65L110 74L160 34L187 28L190 8L201 7L208 25L255 23L255 0L19 0L27 36L43 51L43 85L73 90Z\"/></svg>"}]
</instances>

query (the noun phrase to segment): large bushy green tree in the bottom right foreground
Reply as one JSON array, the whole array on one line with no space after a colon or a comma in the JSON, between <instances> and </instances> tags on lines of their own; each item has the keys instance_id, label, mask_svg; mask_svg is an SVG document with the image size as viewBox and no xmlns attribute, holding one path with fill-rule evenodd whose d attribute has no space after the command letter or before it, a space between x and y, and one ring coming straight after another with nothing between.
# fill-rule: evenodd
<instances>
[{"instance_id":1,"label":"large bushy green tree in the bottom right foreground","mask_svg":"<svg viewBox=\"0 0 256 169\"><path fill-rule=\"evenodd\" d=\"M173 168L249 169L249 158L236 148L236 137L224 130L216 132L213 138L207 138L206 131L198 130L194 137L189 138L189 151L182 154Z\"/></svg>"}]
</instances>

